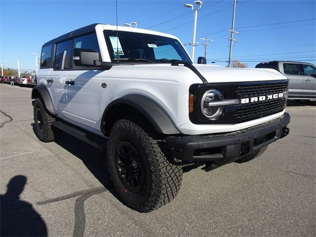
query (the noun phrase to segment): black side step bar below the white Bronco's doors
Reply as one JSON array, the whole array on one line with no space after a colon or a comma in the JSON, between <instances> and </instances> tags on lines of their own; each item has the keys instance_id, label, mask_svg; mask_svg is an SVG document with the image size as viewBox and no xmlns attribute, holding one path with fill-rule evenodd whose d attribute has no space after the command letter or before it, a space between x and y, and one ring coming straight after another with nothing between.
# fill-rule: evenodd
<instances>
[{"instance_id":1,"label":"black side step bar below the white Bronco's doors","mask_svg":"<svg viewBox=\"0 0 316 237\"><path fill-rule=\"evenodd\" d=\"M103 151L107 145L107 139L101 137L97 134L92 132L86 131L76 125L73 125L66 121L54 121L53 126L59 128L60 130L77 137L81 141L88 143L89 145L98 148L99 150Z\"/></svg>"}]
</instances>

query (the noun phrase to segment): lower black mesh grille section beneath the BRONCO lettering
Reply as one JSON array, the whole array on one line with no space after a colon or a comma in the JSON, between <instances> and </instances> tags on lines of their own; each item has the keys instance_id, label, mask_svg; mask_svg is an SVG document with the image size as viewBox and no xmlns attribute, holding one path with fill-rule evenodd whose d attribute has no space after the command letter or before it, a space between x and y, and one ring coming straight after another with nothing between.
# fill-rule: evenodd
<instances>
[{"instance_id":1,"label":"lower black mesh grille section beneath the BRONCO lettering","mask_svg":"<svg viewBox=\"0 0 316 237\"><path fill-rule=\"evenodd\" d=\"M286 101L284 97L247 104L243 109L237 110L237 112L234 113L234 117L242 119L281 112L285 104Z\"/></svg>"}]
</instances>

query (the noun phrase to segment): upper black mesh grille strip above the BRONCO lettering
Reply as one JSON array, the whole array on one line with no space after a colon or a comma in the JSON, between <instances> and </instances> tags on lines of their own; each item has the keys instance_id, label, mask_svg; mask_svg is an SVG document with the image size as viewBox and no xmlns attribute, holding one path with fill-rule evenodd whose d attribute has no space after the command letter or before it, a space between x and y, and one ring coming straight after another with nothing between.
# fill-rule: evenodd
<instances>
[{"instance_id":1,"label":"upper black mesh grille strip above the BRONCO lettering","mask_svg":"<svg viewBox=\"0 0 316 237\"><path fill-rule=\"evenodd\" d=\"M240 85L236 88L237 95L240 98L255 97L259 95L270 95L286 91L287 82L265 83L254 85Z\"/></svg>"}]
</instances>

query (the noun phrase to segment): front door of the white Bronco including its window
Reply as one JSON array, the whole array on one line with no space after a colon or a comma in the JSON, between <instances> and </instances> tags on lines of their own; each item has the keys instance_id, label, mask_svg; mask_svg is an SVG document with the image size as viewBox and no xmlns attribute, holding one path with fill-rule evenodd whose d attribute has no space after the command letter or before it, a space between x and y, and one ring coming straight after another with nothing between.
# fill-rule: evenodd
<instances>
[{"instance_id":1,"label":"front door of the white Bronco including its window","mask_svg":"<svg viewBox=\"0 0 316 237\"><path fill-rule=\"evenodd\" d=\"M88 34L73 39L72 52L75 48L90 49L100 53L96 34ZM103 70L95 67L77 66L71 60L71 67L64 82L65 100L60 101L59 109L64 118L83 125L94 131L100 130L100 77Z\"/></svg>"}]
</instances>

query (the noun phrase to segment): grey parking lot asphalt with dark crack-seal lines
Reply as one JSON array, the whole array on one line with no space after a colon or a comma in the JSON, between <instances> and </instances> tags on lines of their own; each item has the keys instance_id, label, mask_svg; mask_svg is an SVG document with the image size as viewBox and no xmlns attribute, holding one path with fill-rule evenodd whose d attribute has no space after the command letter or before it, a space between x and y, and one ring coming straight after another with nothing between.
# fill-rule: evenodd
<instances>
[{"instance_id":1,"label":"grey parking lot asphalt with dark crack-seal lines","mask_svg":"<svg viewBox=\"0 0 316 237\"><path fill-rule=\"evenodd\" d=\"M151 213L124 206L106 156L34 134L31 88L0 84L1 236L316 236L316 106L290 102L290 134L259 158L184 173Z\"/></svg>"}]
</instances>

